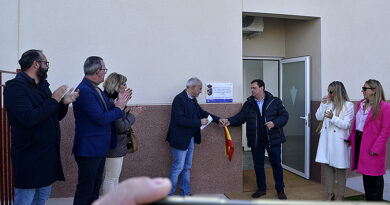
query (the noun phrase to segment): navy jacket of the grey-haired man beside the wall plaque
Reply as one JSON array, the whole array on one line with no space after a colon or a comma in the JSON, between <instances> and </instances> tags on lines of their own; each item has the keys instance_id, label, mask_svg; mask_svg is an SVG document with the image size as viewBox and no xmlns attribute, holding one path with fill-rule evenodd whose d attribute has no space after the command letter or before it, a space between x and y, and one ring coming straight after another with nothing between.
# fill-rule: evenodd
<instances>
[{"instance_id":1,"label":"navy jacket of the grey-haired man beside the wall plaque","mask_svg":"<svg viewBox=\"0 0 390 205\"><path fill-rule=\"evenodd\" d=\"M194 107L195 109L193 109ZM180 150L188 149L192 137L194 137L195 143L200 144L200 119L207 118L209 115L213 118L213 122L218 123L219 117L204 111L196 98L191 100L184 90L173 99L171 123L166 140L171 147Z\"/></svg>"}]
</instances>

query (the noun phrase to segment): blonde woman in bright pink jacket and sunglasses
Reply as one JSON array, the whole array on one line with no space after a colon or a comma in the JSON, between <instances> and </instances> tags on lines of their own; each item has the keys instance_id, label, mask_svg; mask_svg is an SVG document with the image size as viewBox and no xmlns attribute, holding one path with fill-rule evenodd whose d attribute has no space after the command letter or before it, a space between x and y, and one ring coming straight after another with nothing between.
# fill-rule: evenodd
<instances>
[{"instance_id":1,"label":"blonde woman in bright pink jacket and sunglasses","mask_svg":"<svg viewBox=\"0 0 390 205\"><path fill-rule=\"evenodd\" d=\"M390 136L390 105L379 81L370 79L362 87L364 99L349 136L352 145L351 170L363 174L367 201L383 200L383 175L386 173L386 144Z\"/></svg>"}]
</instances>

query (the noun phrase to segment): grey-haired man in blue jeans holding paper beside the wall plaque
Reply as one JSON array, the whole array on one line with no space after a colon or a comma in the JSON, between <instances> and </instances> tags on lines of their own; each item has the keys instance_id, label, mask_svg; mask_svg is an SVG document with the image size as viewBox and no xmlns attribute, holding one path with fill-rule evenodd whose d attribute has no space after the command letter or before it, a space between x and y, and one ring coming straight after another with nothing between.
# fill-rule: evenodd
<instances>
[{"instance_id":1,"label":"grey-haired man in blue jeans holding paper beside the wall plaque","mask_svg":"<svg viewBox=\"0 0 390 205\"><path fill-rule=\"evenodd\" d=\"M176 190L180 175L180 195L191 194L190 169L194 142L200 144L200 127L208 123L210 115L213 122L218 123L219 117L204 111L196 101L196 97L202 92L202 82L198 78L190 78L186 89L176 95L172 103L171 123L169 125L167 141L172 147L172 169L169 179L172 189L169 195Z\"/></svg>"}]
</instances>

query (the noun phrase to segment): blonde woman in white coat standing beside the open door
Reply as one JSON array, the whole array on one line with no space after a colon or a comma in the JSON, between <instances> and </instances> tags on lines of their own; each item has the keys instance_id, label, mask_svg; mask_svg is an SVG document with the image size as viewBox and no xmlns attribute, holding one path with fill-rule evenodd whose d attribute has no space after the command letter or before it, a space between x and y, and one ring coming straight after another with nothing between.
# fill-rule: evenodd
<instances>
[{"instance_id":1,"label":"blonde woman in white coat standing beside the open door","mask_svg":"<svg viewBox=\"0 0 390 205\"><path fill-rule=\"evenodd\" d=\"M346 170L350 167L348 148L349 128L354 116L353 103L349 101L342 82L328 86L328 95L322 98L316 112L317 120L323 121L318 142L316 162L325 164L325 185L328 200L334 200L334 176L337 174L337 200L344 199Z\"/></svg>"}]
</instances>

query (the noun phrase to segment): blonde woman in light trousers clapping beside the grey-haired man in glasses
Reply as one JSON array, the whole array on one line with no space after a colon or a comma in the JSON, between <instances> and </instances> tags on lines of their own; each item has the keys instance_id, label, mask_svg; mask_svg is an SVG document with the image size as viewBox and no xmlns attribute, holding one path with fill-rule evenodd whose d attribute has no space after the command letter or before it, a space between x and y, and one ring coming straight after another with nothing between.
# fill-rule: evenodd
<instances>
[{"instance_id":1,"label":"blonde woman in light trousers clapping beside the grey-haired man in glasses","mask_svg":"<svg viewBox=\"0 0 390 205\"><path fill-rule=\"evenodd\" d=\"M110 99L110 103L118 97L118 94L126 90L127 78L118 73L111 73L104 81L104 92ZM119 176L122 171L123 157L127 154L127 134L135 122L135 117L145 110L144 107L135 107L133 109L125 107L122 118L115 121L117 134L117 145L107 153L105 169L106 174L103 182L103 194L113 190L119 183Z\"/></svg>"}]
</instances>

